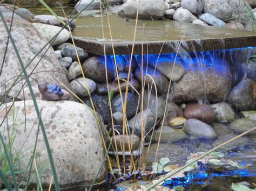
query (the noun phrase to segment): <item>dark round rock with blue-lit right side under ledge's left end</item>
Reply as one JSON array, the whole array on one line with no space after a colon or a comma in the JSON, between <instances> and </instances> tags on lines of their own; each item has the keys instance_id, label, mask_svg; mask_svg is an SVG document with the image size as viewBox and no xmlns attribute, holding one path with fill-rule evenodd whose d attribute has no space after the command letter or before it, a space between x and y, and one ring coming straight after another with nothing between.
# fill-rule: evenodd
<instances>
[{"instance_id":1,"label":"dark round rock with blue-lit right side under ledge's left end","mask_svg":"<svg viewBox=\"0 0 256 191\"><path fill-rule=\"evenodd\" d=\"M114 63L112 60L107 63L107 77L109 81L113 81L116 74L114 71ZM93 81L99 83L106 82L104 57L93 56L87 59L82 66L86 77L89 77Z\"/></svg>"}]
</instances>

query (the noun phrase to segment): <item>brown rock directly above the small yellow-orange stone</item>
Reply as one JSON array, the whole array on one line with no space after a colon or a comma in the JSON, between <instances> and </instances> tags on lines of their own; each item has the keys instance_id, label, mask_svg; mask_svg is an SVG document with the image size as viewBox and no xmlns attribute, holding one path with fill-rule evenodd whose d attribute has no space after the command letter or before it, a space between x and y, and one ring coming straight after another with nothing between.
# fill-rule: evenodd
<instances>
[{"instance_id":1,"label":"brown rock directly above the small yellow-orange stone","mask_svg":"<svg viewBox=\"0 0 256 191\"><path fill-rule=\"evenodd\" d=\"M183 117L183 110L176 103L168 102L164 125L168 125L169 121L174 117Z\"/></svg>"}]
</instances>

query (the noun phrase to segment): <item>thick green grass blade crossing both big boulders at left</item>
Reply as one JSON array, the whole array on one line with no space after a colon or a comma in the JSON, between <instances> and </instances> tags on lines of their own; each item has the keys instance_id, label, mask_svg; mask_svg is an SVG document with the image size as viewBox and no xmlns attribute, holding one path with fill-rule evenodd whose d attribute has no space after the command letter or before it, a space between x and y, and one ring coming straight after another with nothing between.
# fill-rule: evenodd
<instances>
[{"instance_id":1,"label":"thick green grass blade crossing both big boulders at left","mask_svg":"<svg viewBox=\"0 0 256 191\"><path fill-rule=\"evenodd\" d=\"M37 102L36 102L35 94L33 93L33 89L31 87L31 83L30 83L28 74L26 73L26 69L25 69L24 64L22 62L21 56L19 55L18 49L17 49L17 47L15 45L15 41L14 41L14 39L11 36L9 27L6 24L6 21L5 21L4 17L3 17L2 12L0 12L0 15L1 15L1 18L3 20L6 32L8 33L9 38L11 40L12 46L14 47L14 50L16 52L19 64L21 65L21 68L23 70L23 73L24 73L24 76L25 76L25 79L26 79L26 83L28 84L29 91L30 91L30 94L31 94L31 97L32 97L32 100L33 100L33 103L34 103L34 106L35 106L36 113L37 113L37 117L39 119L39 124L41 126L41 131L42 131L42 134L43 134L43 137L44 137L45 147L46 147L46 150L48 152L49 161L50 161L50 165L51 165L51 169L52 169L52 174L53 174L53 179L55 181L55 188L56 188L57 191L59 191L60 187L59 187L59 182L58 182L58 176L57 176L56 168L55 168L55 165L54 165L54 162L53 162L53 158L52 158L52 154L51 154L51 149L50 149L50 145L49 145L49 142L48 142L48 138L47 138L47 135L46 135L46 132L45 132L45 129L44 129L44 124L42 122L40 111L39 111L39 108L38 108L38 105L37 105Z\"/></svg>"}]
</instances>

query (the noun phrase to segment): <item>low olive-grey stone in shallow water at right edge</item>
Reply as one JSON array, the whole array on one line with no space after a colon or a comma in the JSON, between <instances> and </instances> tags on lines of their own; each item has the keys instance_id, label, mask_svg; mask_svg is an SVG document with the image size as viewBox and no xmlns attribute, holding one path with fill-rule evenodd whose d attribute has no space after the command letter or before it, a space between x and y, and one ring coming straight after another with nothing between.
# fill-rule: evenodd
<instances>
[{"instance_id":1,"label":"low olive-grey stone in shallow water at right edge","mask_svg":"<svg viewBox=\"0 0 256 191\"><path fill-rule=\"evenodd\" d=\"M243 133L255 127L256 121L251 121L248 119L236 119L230 124L230 128L238 133ZM256 130L251 131L250 133L248 133L248 135L256 135Z\"/></svg>"}]
</instances>

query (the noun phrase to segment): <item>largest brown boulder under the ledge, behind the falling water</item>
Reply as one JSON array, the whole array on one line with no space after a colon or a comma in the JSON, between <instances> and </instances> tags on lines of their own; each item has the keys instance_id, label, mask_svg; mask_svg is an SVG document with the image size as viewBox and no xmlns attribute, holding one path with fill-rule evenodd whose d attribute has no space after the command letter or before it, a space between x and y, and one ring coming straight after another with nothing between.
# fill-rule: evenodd
<instances>
[{"instance_id":1,"label":"largest brown boulder under the ledge, behind the falling water","mask_svg":"<svg viewBox=\"0 0 256 191\"><path fill-rule=\"evenodd\" d=\"M223 102L230 94L232 82L227 63L215 59L214 67L206 67L204 73L205 79L201 76L201 71L186 69L183 77L178 82L172 83L172 100L176 103L184 103L198 102L207 98L209 102Z\"/></svg>"}]
</instances>

